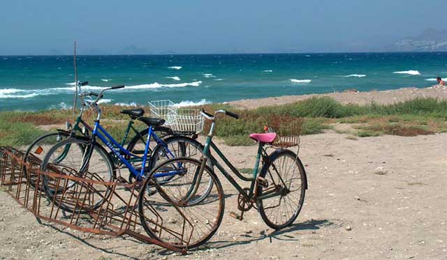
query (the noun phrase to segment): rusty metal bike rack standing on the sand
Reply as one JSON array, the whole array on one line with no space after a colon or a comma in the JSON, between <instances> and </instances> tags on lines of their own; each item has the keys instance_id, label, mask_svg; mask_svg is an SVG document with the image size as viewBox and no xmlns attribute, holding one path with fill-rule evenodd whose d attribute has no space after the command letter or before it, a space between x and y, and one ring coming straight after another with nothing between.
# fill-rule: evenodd
<instances>
[{"instance_id":1,"label":"rusty metal bike rack standing on the sand","mask_svg":"<svg viewBox=\"0 0 447 260\"><path fill-rule=\"evenodd\" d=\"M108 236L132 236L142 242L165 247L168 250L186 254L187 247L175 247L146 235L140 224L138 195L141 182L105 182L96 174L87 173L85 178L70 175L73 169L63 168L61 172L43 172L38 160L23 162L24 153L12 147L0 147L0 185L15 201L34 214L38 222L45 220L61 224L71 229L104 234ZM26 174L24 169L26 168ZM27 176L25 176L27 175ZM54 196L48 197L44 191L43 179L51 178ZM74 183L74 184L73 184ZM75 192L67 192L67 185L77 185ZM98 188L103 191L98 192ZM106 190L106 192L104 192ZM58 191L58 192L56 192ZM105 196L101 194L107 194ZM98 207L93 207L93 199L102 196ZM74 206L73 212L64 211L61 203ZM154 217L147 219L160 229L163 219L156 207L149 205ZM78 209L78 210L76 210ZM88 210L83 210L88 209Z\"/></svg>"}]
</instances>

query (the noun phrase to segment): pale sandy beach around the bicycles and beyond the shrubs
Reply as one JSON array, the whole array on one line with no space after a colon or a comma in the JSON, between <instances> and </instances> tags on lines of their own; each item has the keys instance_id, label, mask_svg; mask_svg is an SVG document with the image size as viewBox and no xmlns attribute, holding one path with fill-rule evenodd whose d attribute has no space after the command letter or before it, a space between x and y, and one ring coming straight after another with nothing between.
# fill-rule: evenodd
<instances>
[{"instance_id":1,"label":"pale sandy beach around the bicycles and beyond the shrubs","mask_svg":"<svg viewBox=\"0 0 447 260\"><path fill-rule=\"evenodd\" d=\"M405 88L324 94L344 103L390 104L419 97L447 98L446 89ZM239 100L244 108L295 102L315 95ZM0 193L1 259L446 259L447 133L346 139L326 130L301 137L299 157L309 190L293 226L274 232L256 212L244 220L237 193L219 173L226 212L217 234L201 250L179 256L133 238L112 238L38 224ZM238 168L252 167L256 146L221 150ZM296 151L296 147L292 148Z\"/></svg>"}]
</instances>

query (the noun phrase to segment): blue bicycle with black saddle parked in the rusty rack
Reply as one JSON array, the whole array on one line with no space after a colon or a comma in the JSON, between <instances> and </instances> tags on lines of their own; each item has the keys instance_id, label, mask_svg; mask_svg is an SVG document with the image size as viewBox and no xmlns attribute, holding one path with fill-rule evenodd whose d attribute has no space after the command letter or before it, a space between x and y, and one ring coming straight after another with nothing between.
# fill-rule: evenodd
<instances>
[{"instance_id":1,"label":"blue bicycle with black saddle parked in the rusty rack","mask_svg":"<svg viewBox=\"0 0 447 260\"><path fill-rule=\"evenodd\" d=\"M98 101L103 97L104 91L122 88L124 86L112 86L103 89L100 93L95 93L94 97L96 99L86 99L84 102L88 102L87 105L97 113L91 135L89 137L75 135L59 142L50 148L50 151L43 159L41 165L41 170L43 171L98 181L86 189L82 187L82 183L67 179L66 183L61 184L59 183L60 178L45 175L43 178L45 193L54 204L64 211L70 213L93 211L101 206L103 200L110 195L110 190L105 185L102 185L101 182L124 181L124 178L117 177L119 168L116 167L117 164L114 163L112 156L115 157L115 160L119 160L125 168L129 169L131 174L129 180L142 181L159 160L180 156L195 157L195 155L202 154L203 146L190 137L176 135L166 140L159 138L156 132L154 132L154 128L165 123L161 118L139 118L140 121L149 125L146 142L142 142L144 144L144 153L133 153L124 148L101 126L101 108L98 106ZM110 153L98 142L98 139L108 148ZM149 149L151 140L156 142L156 148L153 151ZM64 156L61 156L61 154L64 154ZM135 164L135 162L137 163ZM154 178L156 178L159 185L168 185L176 176L179 176L178 171L159 174L154 176ZM212 184L212 180L210 180L210 189ZM79 194L80 192L85 192L85 194ZM89 203L73 204L73 201L68 202L64 197L85 197ZM204 192L202 196L194 198L195 203L199 203L206 197L207 192Z\"/></svg>"}]
</instances>

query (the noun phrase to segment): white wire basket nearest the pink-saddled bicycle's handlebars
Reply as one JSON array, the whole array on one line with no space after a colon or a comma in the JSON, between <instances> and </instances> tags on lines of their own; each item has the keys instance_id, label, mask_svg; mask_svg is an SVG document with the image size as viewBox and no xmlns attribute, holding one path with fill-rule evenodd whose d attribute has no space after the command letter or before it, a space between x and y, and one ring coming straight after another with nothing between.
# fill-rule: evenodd
<instances>
[{"instance_id":1,"label":"white wire basket nearest the pink-saddled bicycle's handlebars","mask_svg":"<svg viewBox=\"0 0 447 260\"><path fill-rule=\"evenodd\" d=\"M200 109L179 108L175 112L167 115L166 123L174 132L193 132L203 131L205 118L200 114Z\"/></svg>"}]
</instances>

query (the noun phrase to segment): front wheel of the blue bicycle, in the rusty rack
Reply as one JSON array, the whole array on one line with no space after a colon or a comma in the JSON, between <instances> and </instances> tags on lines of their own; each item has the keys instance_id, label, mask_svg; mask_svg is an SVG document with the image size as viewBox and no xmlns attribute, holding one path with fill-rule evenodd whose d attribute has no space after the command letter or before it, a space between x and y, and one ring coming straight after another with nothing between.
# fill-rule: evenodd
<instances>
[{"instance_id":1,"label":"front wheel of the blue bicycle, in the rusty rack","mask_svg":"<svg viewBox=\"0 0 447 260\"><path fill-rule=\"evenodd\" d=\"M70 213L89 212L101 206L110 189L101 183L115 178L115 171L108 153L87 139L66 139L53 146L43 159L41 170L57 176L43 176L48 199ZM64 176L82 178L74 181Z\"/></svg>"}]
</instances>

